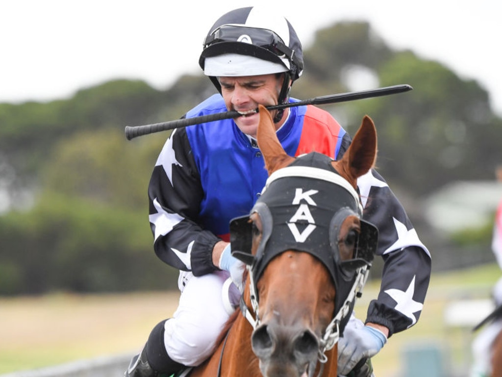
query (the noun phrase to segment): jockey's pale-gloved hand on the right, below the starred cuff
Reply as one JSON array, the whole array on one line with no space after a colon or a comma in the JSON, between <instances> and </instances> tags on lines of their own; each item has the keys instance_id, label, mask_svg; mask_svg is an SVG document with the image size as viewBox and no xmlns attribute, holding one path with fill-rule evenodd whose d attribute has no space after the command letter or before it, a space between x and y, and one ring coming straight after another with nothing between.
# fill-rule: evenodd
<instances>
[{"instance_id":1,"label":"jockey's pale-gloved hand on the right, below the starred cuff","mask_svg":"<svg viewBox=\"0 0 502 377\"><path fill-rule=\"evenodd\" d=\"M387 343L387 336L352 316L338 340L338 374L347 375L362 358L370 358Z\"/></svg>"}]
</instances>

